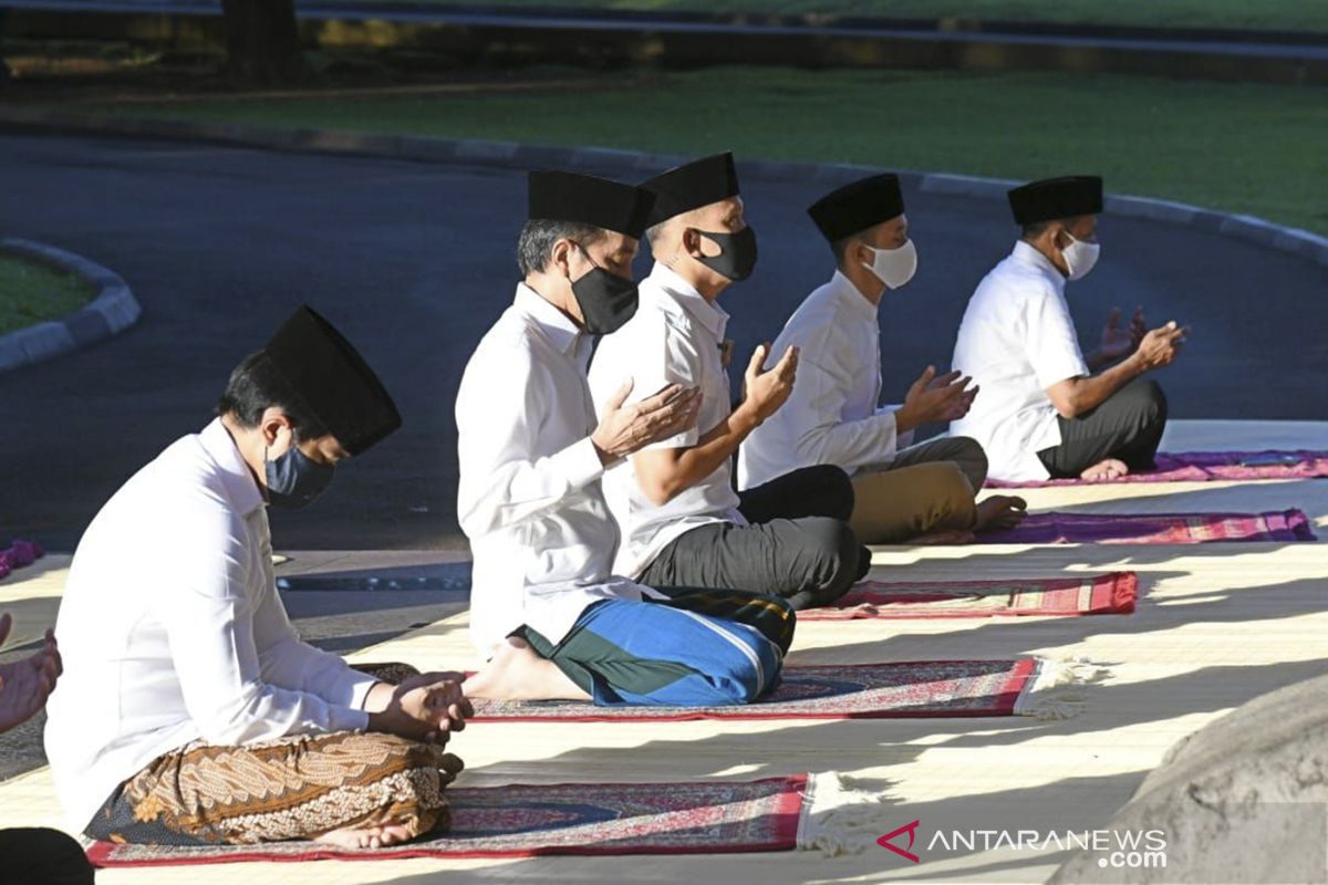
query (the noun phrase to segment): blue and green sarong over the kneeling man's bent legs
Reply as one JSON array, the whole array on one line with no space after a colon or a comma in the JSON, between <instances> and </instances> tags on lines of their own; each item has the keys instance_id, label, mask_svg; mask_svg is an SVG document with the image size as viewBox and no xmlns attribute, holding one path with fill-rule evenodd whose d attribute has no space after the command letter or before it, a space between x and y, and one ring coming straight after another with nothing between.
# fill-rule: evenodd
<instances>
[{"instance_id":1,"label":"blue and green sarong over the kneeling man's bent legs","mask_svg":"<svg viewBox=\"0 0 1328 885\"><path fill-rule=\"evenodd\" d=\"M556 645L523 633L599 706L726 706L778 683L793 612L772 597L699 590L665 602L596 602Z\"/></svg>"}]
</instances>

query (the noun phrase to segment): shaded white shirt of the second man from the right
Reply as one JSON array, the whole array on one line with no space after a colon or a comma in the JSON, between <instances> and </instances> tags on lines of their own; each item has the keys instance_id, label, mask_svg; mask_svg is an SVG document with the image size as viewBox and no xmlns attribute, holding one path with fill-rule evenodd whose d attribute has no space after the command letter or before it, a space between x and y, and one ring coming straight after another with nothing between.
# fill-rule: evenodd
<instances>
[{"instance_id":1,"label":"shaded white shirt of the second man from the right","mask_svg":"<svg viewBox=\"0 0 1328 885\"><path fill-rule=\"evenodd\" d=\"M850 476L884 467L912 442L898 433L899 406L880 406L880 328L876 305L835 271L798 305L770 348L773 365L798 348L789 399L752 431L738 451L738 488L752 488L813 464Z\"/></svg>"}]
</instances>

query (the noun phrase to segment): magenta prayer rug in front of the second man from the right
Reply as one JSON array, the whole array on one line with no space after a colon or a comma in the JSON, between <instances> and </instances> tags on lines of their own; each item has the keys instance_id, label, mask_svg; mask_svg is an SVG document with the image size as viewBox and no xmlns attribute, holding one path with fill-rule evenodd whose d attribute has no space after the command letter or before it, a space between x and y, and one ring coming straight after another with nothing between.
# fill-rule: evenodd
<instances>
[{"instance_id":1,"label":"magenta prayer rug in front of the second man from the right","mask_svg":"<svg viewBox=\"0 0 1328 885\"><path fill-rule=\"evenodd\" d=\"M1211 544L1312 541L1299 510L1268 513L1033 513L1015 528L979 532L979 544Z\"/></svg>"}]
</instances>

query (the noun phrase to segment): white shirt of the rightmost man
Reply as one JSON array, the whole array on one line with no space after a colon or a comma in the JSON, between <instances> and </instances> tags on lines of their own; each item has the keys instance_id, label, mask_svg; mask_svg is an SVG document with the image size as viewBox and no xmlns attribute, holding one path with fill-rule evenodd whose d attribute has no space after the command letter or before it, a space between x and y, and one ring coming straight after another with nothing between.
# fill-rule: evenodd
<instances>
[{"instance_id":1,"label":"white shirt of the rightmost man","mask_svg":"<svg viewBox=\"0 0 1328 885\"><path fill-rule=\"evenodd\" d=\"M1061 444L1046 389L1089 373L1065 277L1046 256L1020 240L983 277L959 324L951 365L983 391L950 433L981 443L992 479L1046 479L1037 452Z\"/></svg>"}]
</instances>

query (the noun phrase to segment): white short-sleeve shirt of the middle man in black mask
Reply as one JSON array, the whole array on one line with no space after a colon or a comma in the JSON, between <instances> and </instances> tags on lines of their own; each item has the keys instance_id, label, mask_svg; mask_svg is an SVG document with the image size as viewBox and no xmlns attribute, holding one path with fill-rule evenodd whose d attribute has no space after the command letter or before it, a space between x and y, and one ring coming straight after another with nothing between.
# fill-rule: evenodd
<instances>
[{"instance_id":1,"label":"white short-sleeve shirt of the middle man in black mask","mask_svg":"<svg viewBox=\"0 0 1328 885\"><path fill-rule=\"evenodd\" d=\"M697 423L668 439L647 446L688 448L733 411L729 374L724 366L724 330L729 314L706 301L687 280L656 263L641 280L640 306L628 322L606 336L590 368L595 407L604 403L628 378L635 381L628 403L652 397L671 383L701 389ZM701 482L684 488L665 504L641 490L631 458L604 475L604 498L623 533L614 561L620 575L639 576L664 547L684 532L717 521L746 524L730 484L725 460Z\"/></svg>"}]
</instances>

